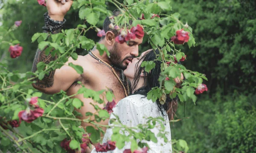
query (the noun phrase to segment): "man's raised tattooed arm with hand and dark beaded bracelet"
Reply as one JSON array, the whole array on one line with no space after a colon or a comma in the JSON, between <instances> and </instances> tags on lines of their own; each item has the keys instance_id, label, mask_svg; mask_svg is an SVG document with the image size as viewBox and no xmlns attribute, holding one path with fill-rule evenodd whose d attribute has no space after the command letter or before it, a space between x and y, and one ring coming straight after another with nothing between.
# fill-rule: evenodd
<instances>
[{"instance_id":1,"label":"man's raised tattooed arm with hand and dark beaded bracelet","mask_svg":"<svg viewBox=\"0 0 256 153\"><path fill-rule=\"evenodd\" d=\"M64 16L67 11L72 6L71 0L47 0L47 10L48 14L45 14L45 20L47 21L44 26L45 32L51 32L52 34L59 33L63 25ZM61 22L56 22L61 21ZM47 47L46 47L47 48ZM35 59L32 66L32 72L37 71L36 65L38 62L44 62L49 64L49 62L55 60L57 56L52 57L51 54L46 55L45 50L37 50L35 54ZM68 62L74 62L69 60ZM66 91L70 85L79 77L76 71L64 65L60 69L53 70L44 76L44 79L35 79L35 83L32 84L34 88L47 93L54 94L60 90Z\"/></svg>"}]
</instances>

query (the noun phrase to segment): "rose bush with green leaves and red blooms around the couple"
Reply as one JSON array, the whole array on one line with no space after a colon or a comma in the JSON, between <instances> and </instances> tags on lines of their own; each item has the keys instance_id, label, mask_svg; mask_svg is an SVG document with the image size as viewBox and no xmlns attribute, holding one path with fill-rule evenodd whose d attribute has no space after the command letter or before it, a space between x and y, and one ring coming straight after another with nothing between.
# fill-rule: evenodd
<instances>
[{"instance_id":1,"label":"rose bush with green leaves and red blooms around the couple","mask_svg":"<svg viewBox=\"0 0 256 153\"><path fill-rule=\"evenodd\" d=\"M124 1L123 3L116 0L106 0L106 2L119 8L121 15L113 17L111 11L106 9L108 3L105 3L105 1L90 0L90 3L84 3L84 1L78 0L73 2L73 8L79 10L80 19L86 20L87 24L62 30L58 34L34 34L32 42L38 42L39 49L42 50L49 46L49 50L54 49L54 54L58 55L58 59L49 64L39 62L35 73L31 71L26 73L10 72L4 64L0 63L0 148L3 152L61 153L65 150L68 152L77 150L84 152L91 143L96 143L97 151L106 151L113 150L116 147L122 148L125 142L131 142L131 149L126 150L126 152L146 153L147 150L150 150L150 146L146 143L137 143L136 140L147 139L156 142L156 137L165 138L164 129L160 130L159 133L148 132L148 129L154 127L153 123L163 124L162 118L148 118L147 124L134 127L140 131L139 133L122 125L119 119L115 119L110 121L113 126L105 126L112 127L113 131L116 131L113 133L111 141L101 144L100 134L104 133L104 130L99 122L109 118L113 107L116 105L111 91L92 91L82 87L71 96L67 96L64 91L61 91L52 95L50 99L44 99L42 93L29 86L33 79L43 79L49 71L64 65L67 62L67 57L76 60L78 58L76 49L90 50L96 45L101 54L104 52L109 54L104 45L97 44L87 38L87 31L90 29L98 31L98 37L105 35L104 30L99 30L96 27L100 16L110 17L111 27L119 30L119 34L115 38L116 42L124 43L135 37L142 38L144 36L145 39L148 39L151 48L160 51L157 60L163 61L159 79L162 82L161 87L153 88L148 93L148 99L155 101L159 98L161 104L164 104L166 94L172 94L172 96L177 95L181 102L189 99L196 102L195 94L207 91L206 86L198 88L198 85L203 83L203 79L207 79L204 74L187 70L183 65L177 64L177 61L184 61L186 55L175 49L175 45L187 42L187 45L192 47L195 40L192 35L192 28L180 22L177 13L166 14L166 11L171 10L168 0L156 1L155 3L144 3L143 1L134 3L133 0ZM38 0L38 3L45 6L44 0ZM142 20L137 20L140 17ZM131 25L125 24L129 23L130 20L133 20ZM20 23L16 22L5 34L15 33L14 30L19 28ZM12 58L26 56L22 54L23 48L18 41L5 39L5 37L0 37L0 44L10 44L9 52ZM6 48L6 51L8 52L8 48ZM69 66L79 74L83 71L79 65L70 64ZM154 62L143 62L142 67L145 67L147 72L151 71L154 68ZM186 80L183 81L182 88L176 88L175 92L172 92L175 88L173 79L180 77L181 73L183 73ZM195 90L195 88L197 89ZM104 109L99 109L98 104L104 102L99 98L103 93L106 94L108 103L104 104ZM82 94L84 98L92 98L95 101L95 104L92 105L97 113L87 112L85 115L89 116L88 119L76 118L76 116L81 115L76 112L76 109L83 105L79 99L72 98L78 94ZM17 122L18 119L19 122ZM80 126L81 122L90 123L96 128L92 126L84 127L86 133L84 128ZM119 131L127 132L129 135L124 135ZM188 150L184 140L173 140L170 143L174 146L174 152ZM175 149L176 145L179 148L178 150Z\"/></svg>"}]
</instances>

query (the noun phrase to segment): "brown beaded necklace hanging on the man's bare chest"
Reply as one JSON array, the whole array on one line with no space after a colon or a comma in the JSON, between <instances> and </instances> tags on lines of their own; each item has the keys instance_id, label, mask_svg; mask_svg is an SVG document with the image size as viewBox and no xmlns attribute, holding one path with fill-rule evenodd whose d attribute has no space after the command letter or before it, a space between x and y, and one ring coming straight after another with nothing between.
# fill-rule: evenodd
<instances>
[{"instance_id":1,"label":"brown beaded necklace hanging on the man's bare chest","mask_svg":"<svg viewBox=\"0 0 256 153\"><path fill-rule=\"evenodd\" d=\"M118 77L118 75L116 74L116 71L114 70L112 65L109 65L107 62L103 61L102 59L100 59L97 55L95 55L92 51L88 51L88 53L90 54L90 56L92 56L93 58L97 59L99 62L103 63L104 65L106 65L108 68L110 68L110 70L113 72L113 74L116 76L116 78L118 79L118 81L121 83L124 91L125 91L125 96L128 96L130 94L130 89L129 89L129 83L128 83L128 78L126 77L126 84L127 84L127 90L125 88L125 85L123 84L122 80L120 79L120 77ZM122 77L124 79L124 75L123 75L123 71L122 71Z\"/></svg>"}]
</instances>

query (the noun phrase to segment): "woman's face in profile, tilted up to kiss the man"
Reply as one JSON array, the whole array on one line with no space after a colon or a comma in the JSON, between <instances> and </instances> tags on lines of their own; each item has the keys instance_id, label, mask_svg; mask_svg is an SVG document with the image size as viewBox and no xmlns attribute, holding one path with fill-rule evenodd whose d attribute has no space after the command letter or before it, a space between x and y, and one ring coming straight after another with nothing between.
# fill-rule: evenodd
<instances>
[{"instance_id":1,"label":"woman's face in profile, tilted up to kiss the man","mask_svg":"<svg viewBox=\"0 0 256 153\"><path fill-rule=\"evenodd\" d=\"M143 60L140 60L140 58L142 58L148 51L144 51L140 57L135 57L134 59L132 59L132 61L128 64L127 68L124 71L124 74L126 77L128 77L128 79L134 79L134 75L136 74L136 71L138 68L140 68L141 63L143 62ZM140 62L139 62L140 61Z\"/></svg>"}]
</instances>

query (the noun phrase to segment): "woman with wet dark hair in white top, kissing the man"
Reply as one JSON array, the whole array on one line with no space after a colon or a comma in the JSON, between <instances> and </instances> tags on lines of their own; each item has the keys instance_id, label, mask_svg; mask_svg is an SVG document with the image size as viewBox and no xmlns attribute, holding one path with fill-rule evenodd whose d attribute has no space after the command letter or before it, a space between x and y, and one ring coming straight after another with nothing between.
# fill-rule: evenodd
<instances>
[{"instance_id":1,"label":"woman with wet dark hair in white top, kissing the man","mask_svg":"<svg viewBox=\"0 0 256 153\"><path fill-rule=\"evenodd\" d=\"M156 118L162 116L164 118L163 123L165 126L165 132L167 133L166 137L168 142L164 142L164 139L159 137L157 137L157 143L145 141L150 147L150 150L148 150L147 153L172 153L171 129L169 126L169 117L167 112L170 112L169 116L173 116L176 110L173 108L177 106L177 99L173 100L167 96L165 105L161 105L159 99L157 99L157 102L152 102L152 100L148 100L146 98L146 94L151 90L151 88L160 86L158 78L160 76L160 65L162 62L158 60L154 61L154 59L156 59L156 54L159 54L158 50L154 52L150 49L143 52L140 57L134 58L132 62L129 63L124 74L131 81L133 94L118 102L116 107L113 108L113 113L110 118L114 119L116 115L119 117L122 125L136 127L138 124L145 124L147 121L146 118L148 117ZM144 68L140 67L143 61L154 61L156 64L155 68L147 73L144 71ZM183 77L183 75L181 77ZM179 82L179 80L176 79L175 82ZM159 133L159 127L160 126L157 126L156 124L153 129L150 129L155 136ZM112 129L107 129L103 142L111 140L112 134ZM115 150L108 151L108 153L123 153L125 149L130 148L131 143L126 143L125 147L121 150L116 147ZM96 150L94 149L92 153L96 153Z\"/></svg>"}]
</instances>

